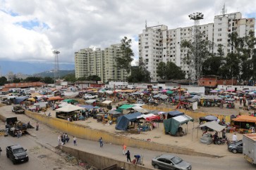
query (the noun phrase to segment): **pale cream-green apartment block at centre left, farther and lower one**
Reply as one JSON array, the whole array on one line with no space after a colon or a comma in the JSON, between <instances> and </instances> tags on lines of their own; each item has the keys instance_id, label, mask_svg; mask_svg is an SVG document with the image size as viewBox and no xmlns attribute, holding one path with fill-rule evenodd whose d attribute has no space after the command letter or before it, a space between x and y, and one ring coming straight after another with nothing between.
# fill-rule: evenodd
<instances>
[{"instance_id":1,"label":"pale cream-green apartment block at centre left, farther and lower one","mask_svg":"<svg viewBox=\"0 0 256 170\"><path fill-rule=\"evenodd\" d=\"M121 44L101 48L80 49L75 52L75 78L97 75L101 81L126 81L130 74L116 67L116 58L121 56Z\"/></svg>"}]
</instances>

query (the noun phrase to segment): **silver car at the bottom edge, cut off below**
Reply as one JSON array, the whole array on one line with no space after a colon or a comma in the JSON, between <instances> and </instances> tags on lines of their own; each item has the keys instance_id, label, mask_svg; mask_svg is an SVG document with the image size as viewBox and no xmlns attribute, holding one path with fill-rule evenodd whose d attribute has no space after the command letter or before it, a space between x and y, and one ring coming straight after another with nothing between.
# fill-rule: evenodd
<instances>
[{"instance_id":1,"label":"silver car at the bottom edge, cut off below","mask_svg":"<svg viewBox=\"0 0 256 170\"><path fill-rule=\"evenodd\" d=\"M155 169L190 170L191 164L176 157L176 155L158 155L152 159Z\"/></svg>"}]
</instances>

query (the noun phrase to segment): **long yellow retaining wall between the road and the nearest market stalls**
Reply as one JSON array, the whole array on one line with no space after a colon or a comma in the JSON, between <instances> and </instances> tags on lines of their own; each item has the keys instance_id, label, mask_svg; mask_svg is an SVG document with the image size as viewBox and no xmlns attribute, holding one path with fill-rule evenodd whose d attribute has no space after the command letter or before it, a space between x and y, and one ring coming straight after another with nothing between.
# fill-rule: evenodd
<instances>
[{"instance_id":1,"label":"long yellow retaining wall between the road and the nearest market stalls","mask_svg":"<svg viewBox=\"0 0 256 170\"><path fill-rule=\"evenodd\" d=\"M177 148L170 145L161 145L159 143L148 142L146 140L138 140L134 138L128 138L126 136L120 136L114 133L108 133L106 131L100 131L97 129L91 129L88 126L75 124L75 122L68 122L63 119L57 119L54 117L47 117L44 115L39 115L37 112L26 111L25 115L33 119L37 119L42 124L46 124L51 128L63 131L70 134L71 136L76 136L78 138L83 138L87 140L98 141L100 137L103 138L106 143L113 143L116 145L126 145L134 148L144 148L148 150L157 150L161 152L173 152L178 154L186 155L198 155L205 157L218 157L217 155L209 155L207 153L196 152L195 150L189 150L184 148Z\"/></svg>"}]
</instances>

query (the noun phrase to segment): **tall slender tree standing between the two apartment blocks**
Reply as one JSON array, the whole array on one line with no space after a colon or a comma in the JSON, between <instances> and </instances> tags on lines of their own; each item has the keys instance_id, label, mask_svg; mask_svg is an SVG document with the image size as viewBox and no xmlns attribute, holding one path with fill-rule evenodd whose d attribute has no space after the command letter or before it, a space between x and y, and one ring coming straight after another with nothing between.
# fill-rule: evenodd
<instances>
[{"instance_id":1,"label":"tall slender tree standing between the two apartment blocks","mask_svg":"<svg viewBox=\"0 0 256 170\"><path fill-rule=\"evenodd\" d=\"M126 72L130 73L131 65L133 61L133 50L131 49L131 39L124 37L121 39L121 56L116 58L116 67L123 68Z\"/></svg>"}]
</instances>

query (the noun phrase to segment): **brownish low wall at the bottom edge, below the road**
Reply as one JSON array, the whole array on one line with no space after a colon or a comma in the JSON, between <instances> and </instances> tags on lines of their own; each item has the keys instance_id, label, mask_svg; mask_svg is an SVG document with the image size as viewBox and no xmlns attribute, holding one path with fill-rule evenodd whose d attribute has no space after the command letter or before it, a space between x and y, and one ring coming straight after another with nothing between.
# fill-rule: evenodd
<instances>
[{"instance_id":1,"label":"brownish low wall at the bottom edge, below the road","mask_svg":"<svg viewBox=\"0 0 256 170\"><path fill-rule=\"evenodd\" d=\"M90 164L92 166L95 166L97 169L102 169L107 166L111 166L114 164L117 164L119 167L123 167L124 169L138 169L138 170L146 170L149 168L145 168L144 166L137 165L136 167L133 166L133 164L127 163L125 161L118 161L115 159L111 159L109 157L102 157L100 155L95 155L89 152L85 152L82 150L75 150L73 148L68 148L66 146L60 146L59 147L64 152L67 152L74 157L77 157L78 159L83 160L83 162L87 162L87 164ZM123 157L124 160L126 160L126 157ZM152 167L153 169L153 167Z\"/></svg>"}]
</instances>

